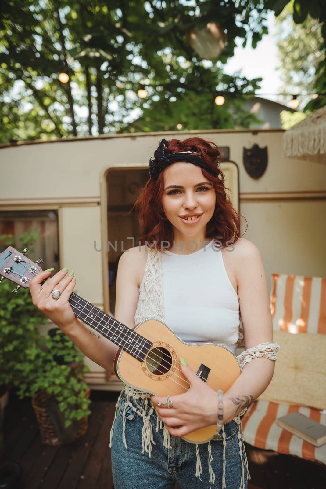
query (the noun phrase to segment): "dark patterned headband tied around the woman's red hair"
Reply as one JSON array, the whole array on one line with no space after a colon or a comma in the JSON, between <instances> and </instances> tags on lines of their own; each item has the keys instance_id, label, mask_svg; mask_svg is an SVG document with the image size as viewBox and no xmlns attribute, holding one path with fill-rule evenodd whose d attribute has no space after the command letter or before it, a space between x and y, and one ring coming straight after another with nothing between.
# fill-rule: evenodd
<instances>
[{"instance_id":1,"label":"dark patterned headband tied around the woman's red hair","mask_svg":"<svg viewBox=\"0 0 326 489\"><path fill-rule=\"evenodd\" d=\"M169 166L171 163L176 161L188 161L193 165L204 168L207 172L211 173L215 177L218 175L221 165L219 160L217 160L216 172L214 172L208 165L202 160L200 156L196 156L196 151L181 151L179 153L168 153L167 152L168 142L166 139L162 139L159 147L154 152L154 159L149 158L149 175L154 180L159 178L160 173Z\"/></svg>"}]
</instances>

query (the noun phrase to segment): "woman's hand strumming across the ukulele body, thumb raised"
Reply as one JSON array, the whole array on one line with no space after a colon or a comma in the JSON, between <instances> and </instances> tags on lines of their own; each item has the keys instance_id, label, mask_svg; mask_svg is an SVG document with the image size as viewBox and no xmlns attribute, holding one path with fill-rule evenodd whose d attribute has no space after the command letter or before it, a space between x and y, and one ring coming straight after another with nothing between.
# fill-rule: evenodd
<instances>
[{"instance_id":1,"label":"woman's hand strumming across the ukulele body, thumb raised","mask_svg":"<svg viewBox=\"0 0 326 489\"><path fill-rule=\"evenodd\" d=\"M166 425L168 432L173 436L185 436L205 426L216 424L218 421L218 397L211 387L199 378L189 365L180 363L181 372L189 381L190 387L184 394L170 397L172 408L167 405L159 406L165 402L166 397L151 396L159 418ZM232 406L224 399L223 424L232 421L234 415ZM234 411L234 406L233 406Z\"/></svg>"}]
</instances>

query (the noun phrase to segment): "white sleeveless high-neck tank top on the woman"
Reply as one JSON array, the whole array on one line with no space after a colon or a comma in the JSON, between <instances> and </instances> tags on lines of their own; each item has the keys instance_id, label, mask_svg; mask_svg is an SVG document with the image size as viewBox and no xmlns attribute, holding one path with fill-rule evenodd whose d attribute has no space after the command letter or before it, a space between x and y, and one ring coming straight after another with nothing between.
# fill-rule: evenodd
<instances>
[{"instance_id":1,"label":"white sleeveless high-neck tank top on the woman","mask_svg":"<svg viewBox=\"0 0 326 489\"><path fill-rule=\"evenodd\" d=\"M164 250L161 270L164 323L186 343L216 343L235 355L239 299L219 244L212 239L189 255Z\"/></svg>"}]
</instances>

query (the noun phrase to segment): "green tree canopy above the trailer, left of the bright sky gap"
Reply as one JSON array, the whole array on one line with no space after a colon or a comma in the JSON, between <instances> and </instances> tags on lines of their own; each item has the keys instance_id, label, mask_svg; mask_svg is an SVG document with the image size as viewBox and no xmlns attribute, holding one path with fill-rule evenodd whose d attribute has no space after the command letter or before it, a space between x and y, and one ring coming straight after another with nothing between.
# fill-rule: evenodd
<instances>
[{"instance_id":1,"label":"green tree canopy above the trailer, left of the bright sky gap","mask_svg":"<svg viewBox=\"0 0 326 489\"><path fill-rule=\"evenodd\" d=\"M202 0L196 6L132 1L123 7L104 0L11 1L0 16L0 142L150 130L151 118L156 120L150 109L165 110L164 95L178 98L183 83L199 99L203 92L198 82L214 90L209 74L218 69L205 65L192 49L187 29L220 23L227 44L216 62L224 64L233 55L236 38L246 42L252 33L257 45L267 31L266 12L260 0L241 5L238 0ZM181 59L189 63L189 71ZM198 69L207 72L202 80ZM58 76L65 70L70 80L62 84ZM141 100L137 91L144 80L148 97ZM162 101L152 104L154 97ZM198 117L205 118L198 107ZM139 119L130 125L126 121L135 109ZM143 110L149 123L143 124ZM174 113L174 126L178 117Z\"/></svg>"}]
</instances>

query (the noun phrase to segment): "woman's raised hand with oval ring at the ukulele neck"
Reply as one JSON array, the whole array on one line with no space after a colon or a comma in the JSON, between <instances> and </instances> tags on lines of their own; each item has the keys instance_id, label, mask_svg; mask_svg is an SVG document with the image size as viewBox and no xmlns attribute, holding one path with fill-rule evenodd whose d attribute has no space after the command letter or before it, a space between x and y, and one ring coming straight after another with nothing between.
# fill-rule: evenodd
<instances>
[{"instance_id":1,"label":"woman's raised hand with oval ring at the ukulele neck","mask_svg":"<svg viewBox=\"0 0 326 489\"><path fill-rule=\"evenodd\" d=\"M49 277L50 273L51 271L38 273L30 281L29 290L34 306L64 332L78 321L69 304L69 297L75 288L76 278L73 281L74 270L70 272L71 275L67 275L68 269L62 269L41 285L41 282ZM53 290L60 290L61 295L58 299L52 297Z\"/></svg>"}]
</instances>

